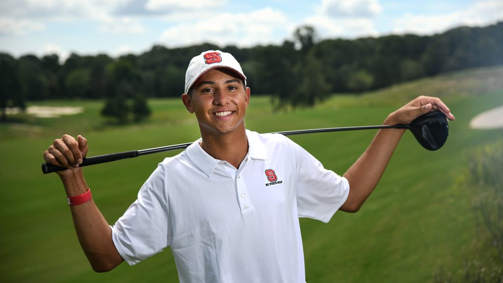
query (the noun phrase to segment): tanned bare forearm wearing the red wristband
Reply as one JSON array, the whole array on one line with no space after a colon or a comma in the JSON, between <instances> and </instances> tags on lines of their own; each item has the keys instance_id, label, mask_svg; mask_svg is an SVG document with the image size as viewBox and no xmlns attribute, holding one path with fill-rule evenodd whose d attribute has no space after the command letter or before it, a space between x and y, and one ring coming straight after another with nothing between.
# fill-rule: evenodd
<instances>
[{"instance_id":1,"label":"tanned bare forearm wearing the red wristband","mask_svg":"<svg viewBox=\"0 0 503 283\"><path fill-rule=\"evenodd\" d=\"M67 196L87 191L81 169L61 178ZM108 271L123 261L112 241L112 231L93 199L70 206L75 232L82 250L95 271Z\"/></svg>"}]
</instances>

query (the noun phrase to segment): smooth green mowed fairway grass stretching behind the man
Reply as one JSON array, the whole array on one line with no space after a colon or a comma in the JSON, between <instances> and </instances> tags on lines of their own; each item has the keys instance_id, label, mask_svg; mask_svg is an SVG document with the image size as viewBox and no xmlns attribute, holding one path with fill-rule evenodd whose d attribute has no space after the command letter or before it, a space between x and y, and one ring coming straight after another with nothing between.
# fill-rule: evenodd
<instances>
[{"instance_id":1,"label":"smooth green mowed fairway grass stretching behind the man","mask_svg":"<svg viewBox=\"0 0 503 283\"><path fill-rule=\"evenodd\" d=\"M315 108L281 113L271 112L268 97L252 92L246 125L259 132L380 124L418 94L442 97L456 116L449 124L447 143L436 152L423 149L406 132L378 187L357 214L338 212L328 224L301 219L307 282L428 282L433 281L434 271L462 269L476 231L470 191L456 181L466 172L467 153L503 138L501 129L468 127L479 112L503 105L503 87L497 84L502 70L472 70L362 96L332 96ZM459 83L453 84L456 80ZM101 102L67 101L44 104L82 105L85 112L32 118L24 125L0 124L0 282L178 281L169 249L133 267L123 263L108 273L92 271L75 236L59 178L40 170L43 152L63 133L86 136L90 155L181 144L199 137L195 117L179 99L149 103L153 110L149 122L122 127L104 125L99 116ZM291 138L326 168L343 174L375 133ZM157 163L178 153L83 169L95 202L110 224L135 200Z\"/></svg>"}]
</instances>

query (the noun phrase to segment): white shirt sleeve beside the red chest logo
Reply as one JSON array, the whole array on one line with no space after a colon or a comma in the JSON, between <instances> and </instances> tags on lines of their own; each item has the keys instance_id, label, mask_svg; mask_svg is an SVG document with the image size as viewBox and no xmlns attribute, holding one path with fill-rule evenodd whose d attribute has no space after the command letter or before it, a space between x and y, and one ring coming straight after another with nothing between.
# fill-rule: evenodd
<instances>
[{"instance_id":1,"label":"white shirt sleeve beside the red chest logo","mask_svg":"<svg viewBox=\"0 0 503 283\"><path fill-rule=\"evenodd\" d=\"M323 167L302 147L287 138L296 161L299 217L327 223L349 195L349 182Z\"/></svg>"}]
</instances>

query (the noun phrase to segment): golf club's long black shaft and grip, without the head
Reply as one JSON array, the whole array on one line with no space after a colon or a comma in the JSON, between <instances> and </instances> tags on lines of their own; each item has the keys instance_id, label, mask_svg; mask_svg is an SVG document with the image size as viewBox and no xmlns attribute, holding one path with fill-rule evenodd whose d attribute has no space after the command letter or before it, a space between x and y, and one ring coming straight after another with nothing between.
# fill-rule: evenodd
<instances>
[{"instance_id":1,"label":"golf club's long black shaft and grip, without the head","mask_svg":"<svg viewBox=\"0 0 503 283\"><path fill-rule=\"evenodd\" d=\"M317 133L317 132L333 132L333 131L350 131L350 130L365 130L365 129L386 129L386 128L408 128L407 124L397 124L397 125L380 125L380 126L357 126L357 127L338 127L338 128L321 128L321 129L306 129L306 130L293 130L293 131L281 131L274 132L282 135L295 135L295 134L304 134L304 133ZM82 158L82 163L79 164L79 167L90 166L95 164L107 163L122 159L134 158L147 154L154 154L159 152L169 152L175 150L183 150L190 146L192 143L180 144L180 145L172 145L165 146L159 148L145 149L139 151L128 151L128 152L120 152L120 153L112 153L105 155L98 155L92 157ZM66 170L65 167L59 167L52 164L44 163L42 164L42 172L44 174Z\"/></svg>"}]
</instances>

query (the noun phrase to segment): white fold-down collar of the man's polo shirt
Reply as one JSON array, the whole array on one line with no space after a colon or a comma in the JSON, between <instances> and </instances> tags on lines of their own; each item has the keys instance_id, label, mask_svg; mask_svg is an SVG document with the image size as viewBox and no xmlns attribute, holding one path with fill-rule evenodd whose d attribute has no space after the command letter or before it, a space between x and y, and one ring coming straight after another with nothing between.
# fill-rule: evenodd
<instances>
[{"instance_id":1,"label":"white fold-down collar of the man's polo shirt","mask_svg":"<svg viewBox=\"0 0 503 283\"><path fill-rule=\"evenodd\" d=\"M267 160L266 147L262 140L259 138L257 132L246 130L246 138L248 139L248 155L251 159ZM203 172L208 178L211 177L213 171L217 167L220 160L214 159L209 154L207 154L199 142L202 138L199 138L194 143L192 143L185 152L189 159Z\"/></svg>"}]
</instances>

